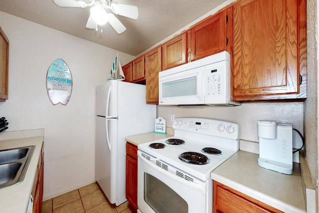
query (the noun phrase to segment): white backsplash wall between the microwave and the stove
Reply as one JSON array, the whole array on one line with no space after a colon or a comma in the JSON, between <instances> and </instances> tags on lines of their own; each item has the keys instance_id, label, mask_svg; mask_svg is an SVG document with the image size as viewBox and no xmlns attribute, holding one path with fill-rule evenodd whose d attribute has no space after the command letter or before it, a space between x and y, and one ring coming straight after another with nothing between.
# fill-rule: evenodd
<instances>
[{"instance_id":1,"label":"white backsplash wall between the microwave and the stove","mask_svg":"<svg viewBox=\"0 0 319 213\"><path fill-rule=\"evenodd\" d=\"M225 120L238 123L240 139L258 141L257 121L276 120L293 124L293 128L303 133L303 102L252 102L243 103L237 107L198 107L182 108L173 106L158 106L158 116L166 119L166 126L172 127L170 114L178 117L200 117ZM294 147L301 147L300 138L294 133Z\"/></svg>"}]
</instances>

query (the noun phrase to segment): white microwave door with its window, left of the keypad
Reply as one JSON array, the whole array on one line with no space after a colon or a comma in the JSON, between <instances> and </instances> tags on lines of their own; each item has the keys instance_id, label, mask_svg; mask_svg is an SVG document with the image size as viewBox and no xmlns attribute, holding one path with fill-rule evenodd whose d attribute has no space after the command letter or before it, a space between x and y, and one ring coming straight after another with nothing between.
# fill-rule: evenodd
<instances>
[{"instance_id":1,"label":"white microwave door with its window, left of the keypad","mask_svg":"<svg viewBox=\"0 0 319 213\"><path fill-rule=\"evenodd\" d=\"M204 67L198 67L161 76L159 82L159 104L204 104L203 71Z\"/></svg>"}]
</instances>

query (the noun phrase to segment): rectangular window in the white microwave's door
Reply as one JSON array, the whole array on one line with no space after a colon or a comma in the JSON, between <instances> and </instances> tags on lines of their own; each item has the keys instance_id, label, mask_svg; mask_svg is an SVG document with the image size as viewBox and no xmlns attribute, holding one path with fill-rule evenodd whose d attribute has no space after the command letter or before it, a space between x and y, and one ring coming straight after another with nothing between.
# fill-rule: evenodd
<instances>
[{"instance_id":1,"label":"rectangular window in the white microwave's door","mask_svg":"<svg viewBox=\"0 0 319 213\"><path fill-rule=\"evenodd\" d=\"M163 83L163 98L196 95L196 81L195 76Z\"/></svg>"}]
</instances>

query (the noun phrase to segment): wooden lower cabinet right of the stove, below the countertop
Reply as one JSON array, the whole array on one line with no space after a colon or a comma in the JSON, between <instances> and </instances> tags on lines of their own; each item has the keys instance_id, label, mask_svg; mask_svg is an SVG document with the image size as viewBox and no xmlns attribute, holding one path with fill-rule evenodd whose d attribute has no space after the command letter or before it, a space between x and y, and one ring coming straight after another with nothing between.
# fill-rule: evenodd
<instances>
[{"instance_id":1,"label":"wooden lower cabinet right of the stove, below the countertop","mask_svg":"<svg viewBox=\"0 0 319 213\"><path fill-rule=\"evenodd\" d=\"M214 181L213 213L282 213L245 194Z\"/></svg>"}]
</instances>

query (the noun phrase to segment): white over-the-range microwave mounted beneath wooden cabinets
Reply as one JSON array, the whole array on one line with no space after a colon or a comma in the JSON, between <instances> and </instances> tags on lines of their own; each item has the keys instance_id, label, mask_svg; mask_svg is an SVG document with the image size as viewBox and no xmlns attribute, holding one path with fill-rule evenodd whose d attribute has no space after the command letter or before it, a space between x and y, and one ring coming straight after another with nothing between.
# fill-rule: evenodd
<instances>
[{"instance_id":1,"label":"white over-the-range microwave mounted beneath wooden cabinets","mask_svg":"<svg viewBox=\"0 0 319 213\"><path fill-rule=\"evenodd\" d=\"M241 105L230 100L230 54L223 51L161 71L159 104Z\"/></svg>"}]
</instances>

